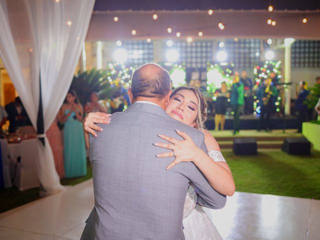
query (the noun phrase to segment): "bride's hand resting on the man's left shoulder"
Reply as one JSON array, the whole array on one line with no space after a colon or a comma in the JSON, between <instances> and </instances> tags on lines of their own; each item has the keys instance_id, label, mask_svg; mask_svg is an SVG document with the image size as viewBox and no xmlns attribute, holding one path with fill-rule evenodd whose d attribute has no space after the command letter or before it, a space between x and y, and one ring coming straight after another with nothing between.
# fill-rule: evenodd
<instances>
[{"instance_id":1,"label":"bride's hand resting on the man's left shoulder","mask_svg":"<svg viewBox=\"0 0 320 240\"><path fill-rule=\"evenodd\" d=\"M89 112L83 119L83 129L85 133L91 133L93 136L96 136L94 130L102 131L101 127L95 125L95 123L110 123L111 114L104 112Z\"/></svg>"}]
</instances>

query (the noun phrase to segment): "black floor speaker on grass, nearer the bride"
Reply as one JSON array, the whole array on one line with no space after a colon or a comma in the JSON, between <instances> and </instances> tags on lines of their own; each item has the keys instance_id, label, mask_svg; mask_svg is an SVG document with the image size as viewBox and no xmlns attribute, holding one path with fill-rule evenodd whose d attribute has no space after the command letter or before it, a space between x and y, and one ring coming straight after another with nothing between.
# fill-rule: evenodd
<instances>
[{"instance_id":1,"label":"black floor speaker on grass, nearer the bride","mask_svg":"<svg viewBox=\"0 0 320 240\"><path fill-rule=\"evenodd\" d=\"M233 140L233 152L235 155L256 155L257 144L254 137L237 137Z\"/></svg>"}]
</instances>

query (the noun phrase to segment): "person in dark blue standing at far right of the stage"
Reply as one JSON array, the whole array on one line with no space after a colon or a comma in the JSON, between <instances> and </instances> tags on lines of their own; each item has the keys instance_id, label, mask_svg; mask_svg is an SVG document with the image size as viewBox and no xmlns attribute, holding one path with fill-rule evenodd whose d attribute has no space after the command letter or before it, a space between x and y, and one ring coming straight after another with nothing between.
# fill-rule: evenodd
<instances>
[{"instance_id":1,"label":"person in dark blue standing at far right of the stage","mask_svg":"<svg viewBox=\"0 0 320 240\"><path fill-rule=\"evenodd\" d=\"M304 100L309 94L309 91L306 89L306 85L304 81L299 82L299 88L296 92L297 98L295 101L295 110L298 112L298 132L302 132L302 122L308 120L308 108L306 104L304 104Z\"/></svg>"}]
</instances>

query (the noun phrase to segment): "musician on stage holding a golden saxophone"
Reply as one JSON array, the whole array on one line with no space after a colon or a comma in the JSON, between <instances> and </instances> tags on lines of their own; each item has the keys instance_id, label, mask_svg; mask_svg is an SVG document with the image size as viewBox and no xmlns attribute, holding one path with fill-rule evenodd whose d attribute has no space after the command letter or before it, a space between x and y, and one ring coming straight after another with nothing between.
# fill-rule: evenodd
<instances>
[{"instance_id":1,"label":"musician on stage holding a golden saxophone","mask_svg":"<svg viewBox=\"0 0 320 240\"><path fill-rule=\"evenodd\" d=\"M258 106L260 107L260 118L258 123L258 131L265 129L271 130L270 116L275 110L275 101L278 95L277 89L272 85L272 79L266 78L257 90L257 98L259 100Z\"/></svg>"}]
</instances>

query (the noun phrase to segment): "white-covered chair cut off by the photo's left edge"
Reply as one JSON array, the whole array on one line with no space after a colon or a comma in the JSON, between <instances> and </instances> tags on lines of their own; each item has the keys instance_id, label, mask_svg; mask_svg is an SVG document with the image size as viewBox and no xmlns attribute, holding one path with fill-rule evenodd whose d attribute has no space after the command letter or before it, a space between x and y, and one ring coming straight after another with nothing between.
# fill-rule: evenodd
<instances>
[{"instance_id":1,"label":"white-covered chair cut off by the photo's left edge","mask_svg":"<svg viewBox=\"0 0 320 240\"><path fill-rule=\"evenodd\" d=\"M11 175L11 160L8 150L8 142L5 139L0 139L1 145L1 157L2 157L2 174L4 187L12 186L12 175Z\"/></svg>"}]
</instances>

